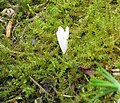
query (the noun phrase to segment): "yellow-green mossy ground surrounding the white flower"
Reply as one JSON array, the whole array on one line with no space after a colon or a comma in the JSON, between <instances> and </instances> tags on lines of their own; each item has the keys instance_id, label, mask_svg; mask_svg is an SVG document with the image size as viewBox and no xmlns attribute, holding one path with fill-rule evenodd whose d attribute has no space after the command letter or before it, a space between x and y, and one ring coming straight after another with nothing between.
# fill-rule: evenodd
<instances>
[{"instance_id":1,"label":"yellow-green mossy ground surrounding the white flower","mask_svg":"<svg viewBox=\"0 0 120 103\"><path fill-rule=\"evenodd\" d=\"M10 38L0 23L0 101L88 103L94 90L85 86L90 79L102 78L95 62L109 72L120 68L119 4L119 0L0 1L1 11L11 7L16 12ZM56 37L59 26L70 28L65 55ZM80 65L92 68L95 75L85 75ZM111 93L95 103L119 98Z\"/></svg>"}]
</instances>

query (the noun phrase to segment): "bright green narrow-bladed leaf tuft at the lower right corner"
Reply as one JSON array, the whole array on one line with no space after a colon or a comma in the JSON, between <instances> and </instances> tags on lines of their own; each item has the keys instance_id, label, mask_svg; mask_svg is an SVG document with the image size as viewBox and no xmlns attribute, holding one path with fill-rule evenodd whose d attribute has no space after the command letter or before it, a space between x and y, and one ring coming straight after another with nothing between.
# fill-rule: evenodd
<instances>
[{"instance_id":1,"label":"bright green narrow-bladed leaf tuft at the lower right corner","mask_svg":"<svg viewBox=\"0 0 120 103\"><path fill-rule=\"evenodd\" d=\"M95 78L90 81L90 84L87 87L96 87L97 90L95 92L96 96L90 101L92 103L95 99L98 99L104 95L120 92L120 82L118 82L111 74L109 74L104 68L102 68L98 63L98 71L102 76L104 76L106 80L100 80ZM97 94L98 93L98 94Z\"/></svg>"}]
</instances>

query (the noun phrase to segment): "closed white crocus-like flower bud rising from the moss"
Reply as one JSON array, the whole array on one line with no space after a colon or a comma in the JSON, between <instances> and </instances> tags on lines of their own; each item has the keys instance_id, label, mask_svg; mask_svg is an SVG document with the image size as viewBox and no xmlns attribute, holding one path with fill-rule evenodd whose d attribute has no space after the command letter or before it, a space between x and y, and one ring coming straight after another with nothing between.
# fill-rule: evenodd
<instances>
[{"instance_id":1,"label":"closed white crocus-like flower bud rising from the moss","mask_svg":"<svg viewBox=\"0 0 120 103\"><path fill-rule=\"evenodd\" d=\"M65 54L65 52L68 48L67 39L69 38L69 27L67 26L64 31L64 29L61 26L59 26L56 35L57 35L57 39L58 39L60 48L61 48L63 54Z\"/></svg>"}]
</instances>

